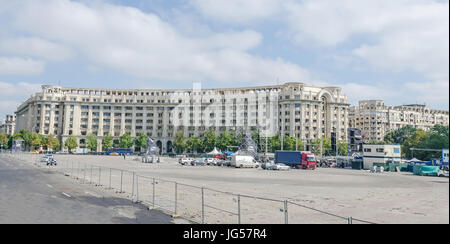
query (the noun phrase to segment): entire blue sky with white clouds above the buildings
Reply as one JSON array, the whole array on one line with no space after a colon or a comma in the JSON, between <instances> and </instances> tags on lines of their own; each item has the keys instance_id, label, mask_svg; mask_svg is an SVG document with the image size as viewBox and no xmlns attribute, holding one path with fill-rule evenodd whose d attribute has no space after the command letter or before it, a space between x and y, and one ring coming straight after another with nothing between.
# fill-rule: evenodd
<instances>
[{"instance_id":1,"label":"entire blue sky with white clouds above the buildings","mask_svg":"<svg viewBox=\"0 0 450 244\"><path fill-rule=\"evenodd\" d=\"M340 86L449 108L448 0L0 0L0 119L41 84Z\"/></svg>"}]
</instances>

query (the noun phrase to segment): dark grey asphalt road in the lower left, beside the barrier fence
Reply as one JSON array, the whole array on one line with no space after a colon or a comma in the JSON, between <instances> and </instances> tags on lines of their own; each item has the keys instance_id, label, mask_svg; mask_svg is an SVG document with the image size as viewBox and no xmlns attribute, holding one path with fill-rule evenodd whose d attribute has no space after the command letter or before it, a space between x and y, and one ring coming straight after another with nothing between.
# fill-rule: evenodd
<instances>
[{"instance_id":1,"label":"dark grey asphalt road in the lower left, beside the barrier fence","mask_svg":"<svg viewBox=\"0 0 450 244\"><path fill-rule=\"evenodd\" d=\"M0 156L0 224L170 224L160 211Z\"/></svg>"}]
</instances>

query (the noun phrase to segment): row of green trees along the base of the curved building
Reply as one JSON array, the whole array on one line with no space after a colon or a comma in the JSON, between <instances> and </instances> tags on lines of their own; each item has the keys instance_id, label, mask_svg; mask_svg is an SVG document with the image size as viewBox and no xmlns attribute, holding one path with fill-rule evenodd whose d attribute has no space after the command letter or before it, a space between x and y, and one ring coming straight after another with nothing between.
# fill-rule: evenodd
<instances>
[{"instance_id":1,"label":"row of green trees along the base of the curved building","mask_svg":"<svg viewBox=\"0 0 450 244\"><path fill-rule=\"evenodd\" d=\"M258 145L258 151L264 152L266 150L266 138L261 137L257 131L251 133L252 139ZM3 139L6 138L6 139ZM223 132L219 136L213 130L206 131L205 135L200 137L189 137L186 138L183 132L178 132L175 135L173 142L174 153L208 153L214 150L214 148L220 151L236 151L242 141L243 134L237 133L236 135L229 133L228 131ZM20 132L14 134L13 136L0 135L0 140L8 141L8 147L11 147L13 140L24 140L25 149L35 150L36 148L43 147L47 150L52 149L58 151L60 148L60 142L54 135L43 136L37 133L30 133L26 130L21 130ZM147 146L148 136L144 133L139 134L137 137L132 138L130 134L126 133L119 138L118 145L115 145L114 138L111 135L106 135L102 140L103 150L107 150L114 146L120 148L131 148L136 147L137 151L140 151ZM88 134L85 137L85 147L91 151L97 151L99 142L97 137L93 134ZM320 148L322 142L322 149ZM1 141L0 141L1 143ZM71 152L73 149L79 146L76 137L69 137L63 145L65 148ZM331 140L326 138L314 139L310 144L311 151L319 155L335 155L331 150ZM338 152L339 155L347 155L347 142L338 142ZM281 150L281 137L279 135L267 138L267 151L275 152ZM302 151L304 149L304 143L302 140L297 140L295 137L285 136L283 137L283 150L285 151L295 151L296 149Z\"/></svg>"}]
</instances>

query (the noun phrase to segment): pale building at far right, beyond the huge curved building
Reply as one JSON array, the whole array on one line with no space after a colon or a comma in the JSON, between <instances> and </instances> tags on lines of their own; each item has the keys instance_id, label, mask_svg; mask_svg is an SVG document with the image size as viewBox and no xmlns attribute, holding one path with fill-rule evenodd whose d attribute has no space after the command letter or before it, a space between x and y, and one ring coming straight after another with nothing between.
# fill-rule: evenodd
<instances>
[{"instance_id":1,"label":"pale building at far right, beyond the huge curved building","mask_svg":"<svg viewBox=\"0 0 450 244\"><path fill-rule=\"evenodd\" d=\"M382 100L367 100L349 109L349 126L361 130L365 143L383 141L387 133L407 125L423 130L436 124L448 126L448 113L425 105L387 106Z\"/></svg>"}]
</instances>

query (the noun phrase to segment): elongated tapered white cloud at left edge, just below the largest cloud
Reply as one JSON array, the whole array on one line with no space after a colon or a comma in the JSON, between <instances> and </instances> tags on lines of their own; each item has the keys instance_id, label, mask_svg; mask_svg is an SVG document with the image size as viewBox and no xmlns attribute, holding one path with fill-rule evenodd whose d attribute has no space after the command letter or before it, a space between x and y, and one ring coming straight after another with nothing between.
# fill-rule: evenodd
<instances>
[{"instance_id":1,"label":"elongated tapered white cloud at left edge, just below the largest cloud","mask_svg":"<svg viewBox=\"0 0 450 244\"><path fill-rule=\"evenodd\" d=\"M69 59L73 53L68 48L41 38L10 38L0 40L0 52L25 55L54 61Z\"/></svg>"}]
</instances>

